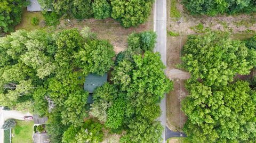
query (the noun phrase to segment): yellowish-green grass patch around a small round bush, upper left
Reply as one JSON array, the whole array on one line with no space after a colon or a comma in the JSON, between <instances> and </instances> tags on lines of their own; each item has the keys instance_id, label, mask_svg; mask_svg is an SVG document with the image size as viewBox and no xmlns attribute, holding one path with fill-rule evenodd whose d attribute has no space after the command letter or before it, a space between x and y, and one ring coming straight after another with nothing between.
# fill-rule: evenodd
<instances>
[{"instance_id":1,"label":"yellowish-green grass patch around a small round bush, upper left","mask_svg":"<svg viewBox=\"0 0 256 143\"><path fill-rule=\"evenodd\" d=\"M31 22L34 17L38 18L39 20L39 24L36 26ZM20 24L15 27L15 30L25 29L31 31L35 29L43 29L44 27L42 27L42 24L40 24L42 21L44 21L44 16L41 12L28 12L25 10L22 13L22 20Z\"/></svg>"}]
</instances>

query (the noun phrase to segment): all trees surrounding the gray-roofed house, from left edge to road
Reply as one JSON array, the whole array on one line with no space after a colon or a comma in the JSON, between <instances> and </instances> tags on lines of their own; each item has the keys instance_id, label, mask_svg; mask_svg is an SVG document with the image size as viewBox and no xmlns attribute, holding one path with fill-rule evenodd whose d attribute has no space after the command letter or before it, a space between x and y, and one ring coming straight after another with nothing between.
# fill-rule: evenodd
<instances>
[{"instance_id":1,"label":"all trees surrounding the gray-roofed house, from left edge to road","mask_svg":"<svg viewBox=\"0 0 256 143\"><path fill-rule=\"evenodd\" d=\"M111 72L113 82L95 90L90 114L103 126L85 121L89 92L83 84L89 73L103 75L113 68L113 46L89 28L11 33L0 39L0 104L46 115L51 142L100 142L103 127L126 130L121 142L159 142L159 102L172 82L163 72L159 53L153 53L155 41L151 31L130 35L129 48Z\"/></svg>"}]
</instances>

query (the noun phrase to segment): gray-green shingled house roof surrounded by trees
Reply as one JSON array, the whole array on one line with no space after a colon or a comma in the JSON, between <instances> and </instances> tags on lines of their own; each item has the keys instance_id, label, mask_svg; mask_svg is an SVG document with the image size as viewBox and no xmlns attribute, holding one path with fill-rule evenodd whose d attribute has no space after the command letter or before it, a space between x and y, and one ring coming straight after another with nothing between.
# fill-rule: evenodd
<instances>
[{"instance_id":1,"label":"gray-green shingled house roof surrounded by trees","mask_svg":"<svg viewBox=\"0 0 256 143\"><path fill-rule=\"evenodd\" d=\"M93 93L94 89L102 86L108 79L108 74L105 73L103 76L97 74L89 74L85 77L84 82L84 90L89 91L89 93Z\"/></svg>"}]
</instances>

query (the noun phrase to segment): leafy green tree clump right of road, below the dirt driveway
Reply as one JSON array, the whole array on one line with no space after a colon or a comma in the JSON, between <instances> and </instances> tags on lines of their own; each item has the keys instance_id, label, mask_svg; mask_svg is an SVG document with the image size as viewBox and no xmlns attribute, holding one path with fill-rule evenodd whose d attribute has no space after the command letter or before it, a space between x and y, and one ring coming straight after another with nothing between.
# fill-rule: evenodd
<instances>
[{"instance_id":1,"label":"leafy green tree clump right of road, below the dirt driveway","mask_svg":"<svg viewBox=\"0 0 256 143\"><path fill-rule=\"evenodd\" d=\"M256 92L246 81L220 89L202 83L187 85L190 95L182 110L188 115L185 131L191 142L255 141Z\"/></svg>"}]
</instances>

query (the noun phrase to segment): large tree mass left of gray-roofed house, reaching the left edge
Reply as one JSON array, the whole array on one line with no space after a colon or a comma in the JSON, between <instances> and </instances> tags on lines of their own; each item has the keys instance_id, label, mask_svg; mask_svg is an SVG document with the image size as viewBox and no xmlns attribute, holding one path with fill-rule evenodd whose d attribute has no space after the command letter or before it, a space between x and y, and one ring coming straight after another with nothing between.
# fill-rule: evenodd
<instances>
[{"instance_id":1,"label":"large tree mass left of gray-roofed house, reaching the left edge","mask_svg":"<svg viewBox=\"0 0 256 143\"><path fill-rule=\"evenodd\" d=\"M82 127L89 94L83 90L84 77L109 71L115 56L113 46L89 28L19 30L1 38L0 49L0 105L48 116L52 142L60 142L70 126Z\"/></svg>"}]
</instances>

